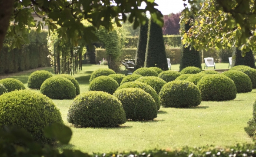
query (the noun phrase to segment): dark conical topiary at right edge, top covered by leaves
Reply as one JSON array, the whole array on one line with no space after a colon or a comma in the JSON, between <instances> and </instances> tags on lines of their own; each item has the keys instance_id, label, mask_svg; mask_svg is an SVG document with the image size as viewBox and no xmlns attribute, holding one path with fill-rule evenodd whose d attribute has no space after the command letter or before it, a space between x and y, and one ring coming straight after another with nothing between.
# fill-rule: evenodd
<instances>
[{"instance_id":1,"label":"dark conical topiary at right edge, top covered by leaves","mask_svg":"<svg viewBox=\"0 0 256 157\"><path fill-rule=\"evenodd\" d=\"M236 57L234 57L232 59L232 67L236 66L236 65L246 65L246 66L256 69L254 54L253 54L252 50L250 50L249 52L246 52L246 56L243 57L241 50L236 48L233 51L233 56L236 56Z\"/></svg>"}]
</instances>

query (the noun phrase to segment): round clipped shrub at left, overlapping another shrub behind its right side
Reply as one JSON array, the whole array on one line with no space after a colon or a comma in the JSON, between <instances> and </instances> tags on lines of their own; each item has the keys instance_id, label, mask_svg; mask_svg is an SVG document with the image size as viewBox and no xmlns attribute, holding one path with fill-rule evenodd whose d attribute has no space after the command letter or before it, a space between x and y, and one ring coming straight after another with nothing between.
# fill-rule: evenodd
<instances>
[{"instance_id":1,"label":"round clipped shrub at left, overlapping another shrub behind its right side","mask_svg":"<svg viewBox=\"0 0 256 157\"><path fill-rule=\"evenodd\" d=\"M40 92L52 99L71 99L76 97L76 87L73 83L58 75L45 80L41 85Z\"/></svg>"}]
</instances>

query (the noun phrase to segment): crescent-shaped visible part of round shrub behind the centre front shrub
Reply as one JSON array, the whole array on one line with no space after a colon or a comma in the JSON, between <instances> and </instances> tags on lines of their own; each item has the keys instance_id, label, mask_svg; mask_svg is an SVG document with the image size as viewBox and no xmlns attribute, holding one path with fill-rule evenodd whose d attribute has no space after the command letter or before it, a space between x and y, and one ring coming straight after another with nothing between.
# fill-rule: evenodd
<instances>
[{"instance_id":1,"label":"crescent-shaped visible part of round shrub behind the centre front shrub","mask_svg":"<svg viewBox=\"0 0 256 157\"><path fill-rule=\"evenodd\" d=\"M120 87L117 88L116 90L123 89L123 88L140 88L140 89L142 89L143 91L150 94L152 96L152 98L155 100L157 110L160 109L160 101L159 101L158 95L157 95L155 89L153 89L150 85L147 85L147 84L141 83L141 82L126 82L123 85L120 85Z\"/></svg>"}]
</instances>

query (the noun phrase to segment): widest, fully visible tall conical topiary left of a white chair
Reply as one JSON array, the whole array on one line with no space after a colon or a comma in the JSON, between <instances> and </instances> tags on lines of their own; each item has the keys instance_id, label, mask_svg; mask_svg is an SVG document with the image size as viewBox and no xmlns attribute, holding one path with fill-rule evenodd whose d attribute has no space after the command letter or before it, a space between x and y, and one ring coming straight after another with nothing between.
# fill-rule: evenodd
<instances>
[{"instance_id":1,"label":"widest, fully visible tall conical topiary left of a white chair","mask_svg":"<svg viewBox=\"0 0 256 157\"><path fill-rule=\"evenodd\" d=\"M158 67L162 70L168 70L165 46L163 41L162 28L154 23L149 22L148 39L146 45L145 67Z\"/></svg>"}]
</instances>

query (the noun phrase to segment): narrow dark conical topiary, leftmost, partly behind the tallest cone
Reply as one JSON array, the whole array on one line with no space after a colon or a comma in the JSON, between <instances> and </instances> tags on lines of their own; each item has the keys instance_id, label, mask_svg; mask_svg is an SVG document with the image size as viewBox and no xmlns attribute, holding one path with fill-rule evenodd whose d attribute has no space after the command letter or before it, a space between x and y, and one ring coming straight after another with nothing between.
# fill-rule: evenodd
<instances>
[{"instance_id":1,"label":"narrow dark conical topiary, leftmost, partly behind the tallest cone","mask_svg":"<svg viewBox=\"0 0 256 157\"><path fill-rule=\"evenodd\" d=\"M140 36L138 39L138 46L135 58L135 69L144 67L148 28L149 20L147 19L144 26L140 25Z\"/></svg>"}]
</instances>

